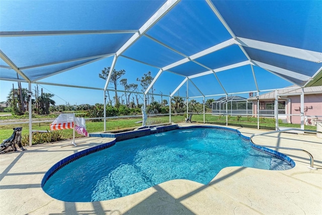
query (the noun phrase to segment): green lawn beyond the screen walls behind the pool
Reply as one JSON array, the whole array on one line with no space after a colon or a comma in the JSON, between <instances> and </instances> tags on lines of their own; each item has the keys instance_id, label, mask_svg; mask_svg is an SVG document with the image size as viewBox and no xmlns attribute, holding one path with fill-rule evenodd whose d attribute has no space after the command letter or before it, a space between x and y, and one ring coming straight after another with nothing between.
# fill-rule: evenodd
<instances>
[{"instance_id":1,"label":"green lawn beyond the screen walls behind the pool","mask_svg":"<svg viewBox=\"0 0 322 215\"><path fill-rule=\"evenodd\" d=\"M257 128L257 118L256 117L228 117L228 125L240 126L240 127L252 127ZM238 118L238 121L237 121ZM141 117L129 117L129 118L117 118L117 119L107 119L106 130L118 130L123 128L134 128L139 127L141 123L135 123L141 121ZM185 121L185 116L177 115L171 116L171 121L174 123L181 123ZM192 121L197 123L203 123L203 114L194 114L192 115ZM205 115L205 122L211 124L226 124L226 116L214 116L211 114ZM157 117L148 117L147 124L162 124L169 123L169 116L157 116ZM42 123L33 123L33 130L49 130L50 122ZM279 126L281 127L294 127L300 128L299 124L289 124L283 123L279 120ZM0 125L0 140L9 138L13 133L14 127L23 127L22 134L29 133L29 124L12 124L12 125ZM104 121L101 122L92 122L90 120L86 121L86 128L89 133L104 131ZM261 129L271 129L275 130L275 119L273 118L261 118L260 119L260 128ZM316 130L316 126L304 126L307 130ZM70 139L72 138L72 129L62 130L63 138ZM83 137L82 135L75 134L75 137Z\"/></svg>"}]
</instances>

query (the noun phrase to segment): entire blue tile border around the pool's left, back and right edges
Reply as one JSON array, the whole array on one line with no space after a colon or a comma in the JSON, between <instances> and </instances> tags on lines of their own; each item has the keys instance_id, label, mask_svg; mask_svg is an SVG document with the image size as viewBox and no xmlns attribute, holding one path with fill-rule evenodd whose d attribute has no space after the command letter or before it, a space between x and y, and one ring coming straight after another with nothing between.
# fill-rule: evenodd
<instances>
[{"instance_id":1,"label":"entire blue tile border around the pool's left, back and right edges","mask_svg":"<svg viewBox=\"0 0 322 215\"><path fill-rule=\"evenodd\" d=\"M106 142L105 144L101 144L95 147L91 147L89 149L83 150L81 152L77 152L73 155L70 155L62 160L60 160L59 162L57 162L56 164L54 164L44 175L42 181L41 181L41 187L43 187L46 183L46 181L48 181L48 179L55 174L59 169L61 169L62 167L66 166L67 164L82 158L84 156L87 156L89 154L107 149L109 147L112 147L116 144L116 142L118 141L122 141L122 140L126 140L126 139L132 139L132 138L137 138L137 137L141 137L141 136L147 136L153 133L160 133L160 132L166 132L166 131L170 131L170 130L176 130L176 129L191 129L191 128L217 128L217 129L224 129L224 130L231 130L236 132L238 135L240 135L241 138L248 140L250 142L250 145L253 149L265 153L267 155L270 155L274 158L277 158L279 160L284 161L285 163L291 165L291 167L295 167L295 162L288 156L280 153L280 152L276 152L275 150L271 150L269 148L266 147L261 147L258 146L256 144L254 144L253 142L250 141L250 137L245 136L243 134L240 133L239 130L234 129L234 128L229 128L229 127L221 127L221 126L216 126L216 125L191 125L191 126L179 126L177 124L174 125L164 125L164 126L157 126L157 127L148 127L148 128L142 128L142 129L138 129L138 130L133 130L133 131L125 131L125 132L121 132L121 133L91 133L89 136L90 137L110 137L110 138L115 138L114 140L110 141L110 142Z\"/></svg>"}]
</instances>

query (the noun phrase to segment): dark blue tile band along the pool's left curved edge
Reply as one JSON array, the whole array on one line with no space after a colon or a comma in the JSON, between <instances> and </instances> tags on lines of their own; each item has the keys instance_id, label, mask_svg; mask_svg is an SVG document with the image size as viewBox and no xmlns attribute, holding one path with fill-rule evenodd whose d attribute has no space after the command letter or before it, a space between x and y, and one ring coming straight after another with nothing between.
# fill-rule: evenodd
<instances>
[{"instance_id":1,"label":"dark blue tile band along the pool's left curved edge","mask_svg":"<svg viewBox=\"0 0 322 215\"><path fill-rule=\"evenodd\" d=\"M44 175L42 181L41 181L41 187L43 187L46 183L46 181L48 181L48 179L53 175L55 174L58 170L60 170L61 168L63 168L64 166L66 166L67 164L79 159L79 158L82 158L84 156L87 156L89 154L92 154L92 153L95 153L95 152L98 152L98 151L101 151L101 150L104 150L104 149L107 149L109 147L112 147L114 146L116 143L116 140L112 140L111 142L107 142L105 144L101 144L101 145L98 145L98 146L95 146L95 147L92 147L92 148L89 148L89 149L86 149L86 150L83 150L81 152L77 152L73 155L70 155L60 161L58 161L56 164L54 164Z\"/></svg>"}]
</instances>

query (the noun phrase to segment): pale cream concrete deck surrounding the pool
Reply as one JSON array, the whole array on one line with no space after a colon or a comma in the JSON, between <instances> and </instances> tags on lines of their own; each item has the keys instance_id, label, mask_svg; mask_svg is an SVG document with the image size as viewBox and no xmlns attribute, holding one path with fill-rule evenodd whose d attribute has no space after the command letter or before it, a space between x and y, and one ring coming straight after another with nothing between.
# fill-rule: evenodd
<instances>
[{"instance_id":1,"label":"pale cream concrete deck surrounding the pool","mask_svg":"<svg viewBox=\"0 0 322 215\"><path fill-rule=\"evenodd\" d=\"M267 131L232 128L247 136ZM48 196L41 180L53 164L107 142L107 138L87 137L77 139L85 141L77 147L61 148L68 143L62 141L0 155L0 214L322 214L322 139L315 134L280 133L253 140L256 144L307 150L317 170L307 168L309 157L305 153L277 150L289 155L295 168L269 171L228 167L207 185L172 180L99 202L64 202Z\"/></svg>"}]
</instances>

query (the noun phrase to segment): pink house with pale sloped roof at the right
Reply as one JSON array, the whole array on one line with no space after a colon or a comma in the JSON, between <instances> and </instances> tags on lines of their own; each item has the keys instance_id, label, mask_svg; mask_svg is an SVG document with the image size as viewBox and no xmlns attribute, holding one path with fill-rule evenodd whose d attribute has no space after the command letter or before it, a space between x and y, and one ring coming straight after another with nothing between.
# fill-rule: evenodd
<instances>
[{"instance_id":1,"label":"pink house with pale sloped roof at the right","mask_svg":"<svg viewBox=\"0 0 322 215\"><path fill-rule=\"evenodd\" d=\"M302 93L302 90L288 88L277 91L277 95L279 95L278 118L287 123L300 124L300 94ZM254 114L257 115L257 97L252 97L248 100L253 101ZM260 95L260 117L274 117L274 103L275 91ZM304 117L306 119L306 124L315 124L314 119L322 119L322 86L304 88Z\"/></svg>"}]
</instances>

